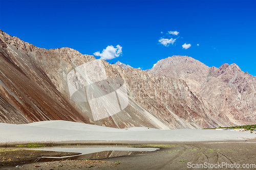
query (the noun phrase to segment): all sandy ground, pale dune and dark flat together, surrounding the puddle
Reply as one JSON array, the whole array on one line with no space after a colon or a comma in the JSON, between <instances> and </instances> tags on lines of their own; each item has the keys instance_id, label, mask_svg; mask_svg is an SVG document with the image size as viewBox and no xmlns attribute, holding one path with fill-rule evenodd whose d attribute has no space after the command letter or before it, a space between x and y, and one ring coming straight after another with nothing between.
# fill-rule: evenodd
<instances>
[{"instance_id":1,"label":"all sandy ground, pale dune and dark flat together, surrounding the puddle","mask_svg":"<svg viewBox=\"0 0 256 170\"><path fill-rule=\"evenodd\" d=\"M112 144L122 147L136 145L135 147L161 149L154 152L129 151L130 155L123 154L124 156L97 161L61 159L50 162L33 162L35 157L45 155L47 151L27 151L27 153L3 151L0 155L1 169L191 169L188 168L189 165L200 164L202 168L197 169L256 169L253 166L256 164L254 133L201 129L157 130L146 127L115 129L63 120L27 125L0 123L0 129L0 146L52 142L52 144ZM50 154L58 155L59 152L50 152ZM65 154L61 153L61 156ZM24 159L18 160L21 157ZM240 168L237 166L234 168L235 163L239 164ZM245 168L242 168L243 164ZM247 168L246 164L249 166L252 164L253 167ZM209 167L211 165L217 165L217 168ZM227 168L227 165L232 168Z\"/></svg>"}]
</instances>

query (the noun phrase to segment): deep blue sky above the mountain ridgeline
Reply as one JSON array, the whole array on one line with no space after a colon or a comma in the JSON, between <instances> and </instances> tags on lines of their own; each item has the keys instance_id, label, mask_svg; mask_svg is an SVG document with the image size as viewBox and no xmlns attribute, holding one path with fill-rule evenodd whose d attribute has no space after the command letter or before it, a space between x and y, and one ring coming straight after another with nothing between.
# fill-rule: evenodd
<instances>
[{"instance_id":1,"label":"deep blue sky above the mountain ridgeline","mask_svg":"<svg viewBox=\"0 0 256 170\"><path fill-rule=\"evenodd\" d=\"M256 76L255 0L0 0L0 29L48 49L71 47L103 56L110 46L105 51L117 52L116 58L106 61L135 68L152 68L160 59L184 55L208 66L236 63ZM176 40L165 46L162 38ZM185 49L185 43L191 46Z\"/></svg>"}]
</instances>

